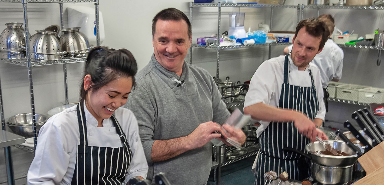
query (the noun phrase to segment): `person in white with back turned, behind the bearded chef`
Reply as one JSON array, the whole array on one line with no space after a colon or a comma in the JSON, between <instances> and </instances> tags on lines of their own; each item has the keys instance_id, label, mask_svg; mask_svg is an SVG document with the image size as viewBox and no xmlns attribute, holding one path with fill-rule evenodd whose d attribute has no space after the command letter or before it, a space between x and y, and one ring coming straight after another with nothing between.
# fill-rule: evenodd
<instances>
[{"instance_id":1,"label":"person in white with back turned, behind the bearded chef","mask_svg":"<svg viewBox=\"0 0 384 185\"><path fill-rule=\"evenodd\" d=\"M329 38L324 45L323 51L314 56L312 63L320 70L321 84L323 85L324 104L328 112L328 91L329 81L338 82L343 71L344 51L331 39L335 28L335 20L330 14L323 14L318 17L329 29ZM292 51L293 45L284 48L284 55Z\"/></svg>"}]
</instances>

